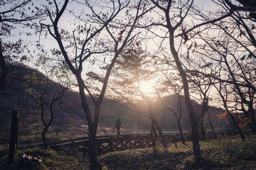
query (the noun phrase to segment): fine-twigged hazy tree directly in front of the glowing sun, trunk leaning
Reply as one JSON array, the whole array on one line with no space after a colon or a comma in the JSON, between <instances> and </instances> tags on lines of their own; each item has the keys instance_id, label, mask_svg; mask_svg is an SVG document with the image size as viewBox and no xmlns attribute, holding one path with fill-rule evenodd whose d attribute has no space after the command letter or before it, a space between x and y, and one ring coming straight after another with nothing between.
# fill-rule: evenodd
<instances>
[{"instance_id":1,"label":"fine-twigged hazy tree directly in front of the glowing sun, trunk leaning","mask_svg":"<svg viewBox=\"0 0 256 170\"><path fill-rule=\"evenodd\" d=\"M159 132L164 147L167 147L166 140L161 127L156 120L156 101L151 96L149 91L143 91L142 81L150 80L154 74L150 72L148 65L150 62L146 59L146 55L142 51L141 45L136 47L127 47L122 53L122 58L117 62L113 70L113 77L116 79L112 81L110 89L118 95L122 101L129 103L129 108L138 114L144 115L151 120L151 135L154 133L154 142L156 141L156 130ZM146 106L137 106L136 103L141 101Z\"/></svg>"}]
</instances>

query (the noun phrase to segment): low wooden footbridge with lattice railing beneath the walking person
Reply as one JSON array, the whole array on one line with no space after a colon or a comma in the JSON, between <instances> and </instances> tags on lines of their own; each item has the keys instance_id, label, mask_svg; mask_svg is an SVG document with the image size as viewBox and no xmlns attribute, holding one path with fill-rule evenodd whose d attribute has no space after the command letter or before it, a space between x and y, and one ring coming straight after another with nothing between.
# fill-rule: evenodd
<instances>
[{"instance_id":1,"label":"low wooden footbridge with lattice railing beneath the walking person","mask_svg":"<svg viewBox=\"0 0 256 170\"><path fill-rule=\"evenodd\" d=\"M164 133L165 136L174 135L174 133ZM80 137L72 140L62 140L58 142L49 142L51 149L60 151L73 151L73 152L87 152L88 150L88 137ZM100 136L97 137L97 153L106 153L114 151L122 151L126 149L137 149L152 147L152 137L150 134L134 134L134 135L119 135L119 136ZM43 147L40 145L29 145L18 147L19 149L26 149L31 147Z\"/></svg>"}]
</instances>

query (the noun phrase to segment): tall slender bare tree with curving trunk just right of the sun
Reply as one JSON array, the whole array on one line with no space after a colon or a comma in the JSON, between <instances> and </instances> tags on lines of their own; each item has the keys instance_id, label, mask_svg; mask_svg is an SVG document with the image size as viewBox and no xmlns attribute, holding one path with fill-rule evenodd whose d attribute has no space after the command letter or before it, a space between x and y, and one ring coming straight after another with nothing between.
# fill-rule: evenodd
<instances>
[{"instance_id":1,"label":"tall slender bare tree with curving trunk just right of the sun","mask_svg":"<svg viewBox=\"0 0 256 170\"><path fill-rule=\"evenodd\" d=\"M176 50L176 35L174 34L178 28L182 28L183 30L183 39L184 43L188 41L188 35L185 33L186 29L183 28L183 21L188 16L188 12L191 10L191 6L193 1L181 2L178 1L177 4L174 1L153 1L152 2L158 7L158 10L161 11L162 18L164 18L164 22L159 23L151 23L151 27L161 27L166 29L166 35L169 40L169 50L171 51L171 55L174 59L176 64L176 68L178 69L179 74L181 75L182 83L183 83L183 91L186 101L186 106L188 108L188 113L190 117L191 123L191 137L193 142L193 154L196 158L196 161L199 162L201 159L201 151L199 147L199 139L198 139L198 123L196 120L196 113L193 109L190 93L189 93L189 86L188 86L188 79L186 76L186 72L184 71L182 64L181 64L181 55L178 54L178 50ZM177 13L172 13L172 10L178 10ZM176 19L178 18L178 19ZM177 39L178 40L178 39ZM180 41L180 40L179 40Z\"/></svg>"}]
</instances>

